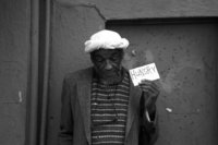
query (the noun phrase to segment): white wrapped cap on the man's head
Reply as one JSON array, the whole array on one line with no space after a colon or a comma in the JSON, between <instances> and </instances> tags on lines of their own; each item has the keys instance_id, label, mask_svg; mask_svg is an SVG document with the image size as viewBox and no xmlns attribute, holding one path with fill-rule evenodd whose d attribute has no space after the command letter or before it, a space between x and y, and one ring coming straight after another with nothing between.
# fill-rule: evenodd
<instances>
[{"instance_id":1,"label":"white wrapped cap on the man's head","mask_svg":"<svg viewBox=\"0 0 218 145\"><path fill-rule=\"evenodd\" d=\"M129 41L125 38L112 31L104 29L90 37L90 40L85 41L85 52L90 53L94 50L102 49L125 49Z\"/></svg>"}]
</instances>

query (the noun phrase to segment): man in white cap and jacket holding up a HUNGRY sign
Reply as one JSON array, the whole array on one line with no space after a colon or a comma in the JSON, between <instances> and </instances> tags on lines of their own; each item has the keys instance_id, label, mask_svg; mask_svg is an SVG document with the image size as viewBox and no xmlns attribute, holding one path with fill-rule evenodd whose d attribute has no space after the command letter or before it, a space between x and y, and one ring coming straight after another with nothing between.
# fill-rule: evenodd
<instances>
[{"instance_id":1,"label":"man in white cap and jacket holding up a HUNGRY sign","mask_svg":"<svg viewBox=\"0 0 218 145\"><path fill-rule=\"evenodd\" d=\"M158 136L158 86L133 86L122 67L129 41L100 31L85 43L93 68L66 75L62 88L59 145L152 145Z\"/></svg>"}]
</instances>

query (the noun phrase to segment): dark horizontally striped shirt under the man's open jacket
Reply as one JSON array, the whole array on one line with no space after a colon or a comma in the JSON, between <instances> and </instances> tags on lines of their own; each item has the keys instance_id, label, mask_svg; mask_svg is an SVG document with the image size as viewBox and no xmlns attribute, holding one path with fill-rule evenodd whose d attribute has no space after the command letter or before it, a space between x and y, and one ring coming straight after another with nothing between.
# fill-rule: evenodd
<instances>
[{"instance_id":1,"label":"dark horizontally striped shirt under the man's open jacket","mask_svg":"<svg viewBox=\"0 0 218 145\"><path fill-rule=\"evenodd\" d=\"M92 84L92 145L123 145L128 116L130 76L117 85Z\"/></svg>"}]
</instances>

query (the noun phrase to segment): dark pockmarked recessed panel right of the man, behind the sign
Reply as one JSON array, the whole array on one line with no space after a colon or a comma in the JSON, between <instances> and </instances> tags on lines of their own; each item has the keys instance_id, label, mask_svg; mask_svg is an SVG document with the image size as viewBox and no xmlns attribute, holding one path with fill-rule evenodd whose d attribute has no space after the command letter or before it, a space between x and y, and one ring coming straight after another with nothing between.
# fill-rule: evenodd
<instances>
[{"instance_id":1,"label":"dark pockmarked recessed panel right of the man, behind the sign","mask_svg":"<svg viewBox=\"0 0 218 145\"><path fill-rule=\"evenodd\" d=\"M161 93L156 145L217 145L217 24L110 23L107 28L131 41L124 56L126 68L157 65Z\"/></svg>"}]
</instances>

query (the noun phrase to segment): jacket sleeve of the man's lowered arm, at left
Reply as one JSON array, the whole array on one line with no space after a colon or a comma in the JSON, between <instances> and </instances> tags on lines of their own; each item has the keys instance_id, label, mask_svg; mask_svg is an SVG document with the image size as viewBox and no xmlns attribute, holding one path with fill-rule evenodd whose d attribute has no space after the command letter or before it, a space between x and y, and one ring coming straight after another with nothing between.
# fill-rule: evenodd
<instances>
[{"instance_id":1,"label":"jacket sleeve of the man's lowered arm, at left","mask_svg":"<svg viewBox=\"0 0 218 145\"><path fill-rule=\"evenodd\" d=\"M71 89L68 77L64 78L61 94L61 119L58 145L72 145L73 142L73 116L71 109Z\"/></svg>"}]
</instances>

